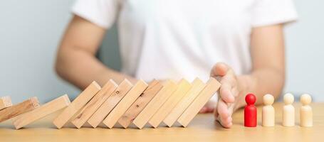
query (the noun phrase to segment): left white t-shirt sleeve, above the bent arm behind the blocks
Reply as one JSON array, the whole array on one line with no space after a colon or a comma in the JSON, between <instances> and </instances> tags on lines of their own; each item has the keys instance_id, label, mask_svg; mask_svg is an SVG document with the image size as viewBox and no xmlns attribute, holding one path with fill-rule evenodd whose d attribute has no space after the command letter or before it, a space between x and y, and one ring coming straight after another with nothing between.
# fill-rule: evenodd
<instances>
[{"instance_id":1,"label":"left white t-shirt sleeve, above the bent arm behind the blocks","mask_svg":"<svg viewBox=\"0 0 324 142\"><path fill-rule=\"evenodd\" d=\"M118 11L118 0L77 0L72 7L72 13L103 28L115 23Z\"/></svg>"}]
</instances>

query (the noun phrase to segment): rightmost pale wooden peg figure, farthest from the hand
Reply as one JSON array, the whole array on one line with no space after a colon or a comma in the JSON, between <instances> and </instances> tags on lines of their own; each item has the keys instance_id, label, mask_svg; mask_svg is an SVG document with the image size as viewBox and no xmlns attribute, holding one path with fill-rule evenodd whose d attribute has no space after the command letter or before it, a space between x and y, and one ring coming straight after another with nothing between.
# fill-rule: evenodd
<instances>
[{"instance_id":1,"label":"rightmost pale wooden peg figure, farthest from the hand","mask_svg":"<svg viewBox=\"0 0 324 142\"><path fill-rule=\"evenodd\" d=\"M312 102L312 98L309 94L301 95L301 126L313 126L313 111L312 107L309 106L310 102Z\"/></svg>"}]
</instances>

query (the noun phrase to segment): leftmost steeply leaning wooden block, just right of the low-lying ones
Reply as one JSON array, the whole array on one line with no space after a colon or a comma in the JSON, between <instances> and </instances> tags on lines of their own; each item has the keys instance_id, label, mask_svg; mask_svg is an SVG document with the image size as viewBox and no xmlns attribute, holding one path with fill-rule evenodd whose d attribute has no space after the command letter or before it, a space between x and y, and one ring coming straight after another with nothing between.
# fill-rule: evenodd
<instances>
[{"instance_id":1,"label":"leftmost steeply leaning wooden block, just right of the low-lying ones","mask_svg":"<svg viewBox=\"0 0 324 142\"><path fill-rule=\"evenodd\" d=\"M99 92L101 89L100 85L97 82L92 82L81 94L76 97L73 102L59 114L56 119L54 119L53 124L61 129L68 120L70 120L75 113L77 113L82 107L87 104L90 99Z\"/></svg>"}]
</instances>

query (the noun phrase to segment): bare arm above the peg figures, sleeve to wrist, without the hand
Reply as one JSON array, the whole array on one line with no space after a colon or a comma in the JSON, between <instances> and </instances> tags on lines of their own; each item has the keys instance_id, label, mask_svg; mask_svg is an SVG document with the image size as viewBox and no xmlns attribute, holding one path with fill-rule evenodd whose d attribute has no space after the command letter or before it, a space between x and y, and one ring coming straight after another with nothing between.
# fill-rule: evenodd
<instances>
[{"instance_id":1,"label":"bare arm above the peg figures, sleeve to wrist, without the hand","mask_svg":"<svg viewBox=\"0 0 324 142\"><path fill-rule=\"evenodd\" d=\"M261 104L264 94L278 98L285 83L285 45L283 26L253 28L251 33L252 72L239 77L241 95L251 92L256 95L256 104ZM245 100L241 98L240 105Z\"/></svg>"}]
</instances>

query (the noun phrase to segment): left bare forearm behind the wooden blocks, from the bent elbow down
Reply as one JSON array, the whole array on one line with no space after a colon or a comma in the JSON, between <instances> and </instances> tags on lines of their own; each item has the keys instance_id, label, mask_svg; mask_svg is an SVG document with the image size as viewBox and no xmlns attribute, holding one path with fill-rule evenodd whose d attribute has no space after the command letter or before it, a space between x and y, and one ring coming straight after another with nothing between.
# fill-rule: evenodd
<instances>
[{"instance_id":1,"label":"left bare forearm behind the wooden blocks, from the bent elbow down","mask_svg":"<svg viewBox=\"0 0 324 142\"><path fill-rule=\"evenodd\" d=\"M130 82L135 82L133 77L105 67L94 55L85 50L78 50L78 48L64 48L59 51L56 72L80 89L85 89L93 81L101 86L110 79L116 83L122 82L125 78Z\"/></svg>"}]
</instances>

